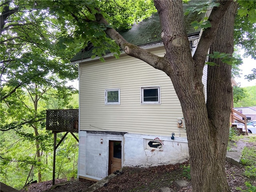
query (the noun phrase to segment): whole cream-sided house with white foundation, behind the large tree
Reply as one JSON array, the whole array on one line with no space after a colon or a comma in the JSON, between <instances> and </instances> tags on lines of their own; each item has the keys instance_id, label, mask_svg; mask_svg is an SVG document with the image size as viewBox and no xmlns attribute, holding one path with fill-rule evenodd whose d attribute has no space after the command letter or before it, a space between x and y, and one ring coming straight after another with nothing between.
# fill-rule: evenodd
<instances>
[{"instance_id":1,"label":"whole cream-sided house with white foundation, behind the large tree","mask_svg":"<svg viewBox=\"0 0 256 192\"><path fill-rule=\"evenodd\" d=\"M205 15L191 14L185 19L193 54L200 30L190 23ZM120 34L158 56L165 54L157 14ZM100 180L123 166L188 160L186 125L170 78L125 53L119 59L107 54L106 62L91 56L87 48L71 60L79 63L78 177Z\"/></svg>"}]
</instances>

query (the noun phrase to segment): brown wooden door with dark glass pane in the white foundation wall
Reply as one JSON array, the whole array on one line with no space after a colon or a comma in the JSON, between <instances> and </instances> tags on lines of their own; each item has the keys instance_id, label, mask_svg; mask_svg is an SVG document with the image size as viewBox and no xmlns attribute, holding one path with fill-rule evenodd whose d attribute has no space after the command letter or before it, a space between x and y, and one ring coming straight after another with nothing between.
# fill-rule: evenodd
<instances>
[{"instance_id":1,"label":"brown wooden door with dark glass pane in the white foundation wall","mask_svg":"<svg viewBox=\"0 0 256 192\"><path fill-rule=\"evenodd\" d=\"M122 168L122 145L121 141L109 141L109 166L108 174Z\"/></svg>"}]
</instances>

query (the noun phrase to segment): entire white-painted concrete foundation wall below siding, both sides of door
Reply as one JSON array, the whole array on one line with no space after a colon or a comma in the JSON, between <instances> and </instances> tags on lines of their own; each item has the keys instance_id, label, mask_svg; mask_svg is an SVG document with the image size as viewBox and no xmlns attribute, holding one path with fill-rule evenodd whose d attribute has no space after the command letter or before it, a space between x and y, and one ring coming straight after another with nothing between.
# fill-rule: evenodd
<instances>
[{"instance_id":1,"label":"entire white-painted concrete foundation wall below siding, both sides of door","mask_svg":"<svg viewBox=\"0 0 256 192\"><path fill-rule=\"evenodd\" d=\"M171 134L170 134L171 136ZM142 134L112 135L102 132L79 132L78 177L100 180L108 176L109 141L122 142L123 166L158 166L188 160L186 138ZM158 138L158 139L156 139ZM103 142L101 143L101 139ZM161 141L160 149L150 148L149 141Z\"/></svg>"}]
</instances>

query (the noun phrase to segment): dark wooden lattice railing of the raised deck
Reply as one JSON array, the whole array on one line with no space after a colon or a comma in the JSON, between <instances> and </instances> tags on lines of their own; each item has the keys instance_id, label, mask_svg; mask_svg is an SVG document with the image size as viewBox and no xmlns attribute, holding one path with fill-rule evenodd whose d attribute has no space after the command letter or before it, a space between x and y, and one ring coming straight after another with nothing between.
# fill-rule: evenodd
<instances>
[{"instance_id":1,"label":"dark wooden lattice railing of the raised deck","mask_svg":"<svg viewBox=\"0 0 256 192\"><path fill-rule=\"evenodd\" d=\"M46 110L46 130L78 132L78 109Z\"/></svg>"}]
</instances>

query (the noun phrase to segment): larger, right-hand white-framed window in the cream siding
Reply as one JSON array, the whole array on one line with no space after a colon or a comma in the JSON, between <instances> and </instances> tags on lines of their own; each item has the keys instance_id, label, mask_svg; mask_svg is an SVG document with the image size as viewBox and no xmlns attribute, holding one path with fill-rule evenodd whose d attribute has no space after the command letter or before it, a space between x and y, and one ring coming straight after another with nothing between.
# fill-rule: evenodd
<instances>
[{"instance_id":1,"label":"larger, right-hand white-framed window in the cream siding","mask_svg":"<svg viewBox=\"0 0 256 192\"><path fill-rule=\"evenodd\" d=\"M141 104L161 104L160 102L160 86L141 87L140 90Z\"/></svg>"}]
</instances>

